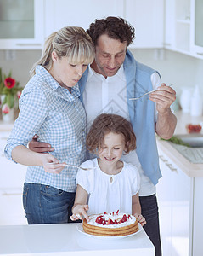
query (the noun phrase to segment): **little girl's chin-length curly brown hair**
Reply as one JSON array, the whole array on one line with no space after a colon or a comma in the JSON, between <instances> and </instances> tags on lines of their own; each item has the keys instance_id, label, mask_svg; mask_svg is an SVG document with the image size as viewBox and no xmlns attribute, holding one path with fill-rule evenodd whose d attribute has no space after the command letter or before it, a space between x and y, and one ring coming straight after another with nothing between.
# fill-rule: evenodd
<instances>
[{"instance_id":1,"label":"little girl's chin-length curly brown hair","mask_svg":"<svg viewBox=\"0 0 203 256\"><path fill-rule=\"evenodd\" d=\"M96 154L104 143L104 136L110 132L121 134L124 137L126 154L136 148L136 137L131 123L120 115L102 113L94 119L87 134L87 149Z\"/></svg>"}]
</instances>

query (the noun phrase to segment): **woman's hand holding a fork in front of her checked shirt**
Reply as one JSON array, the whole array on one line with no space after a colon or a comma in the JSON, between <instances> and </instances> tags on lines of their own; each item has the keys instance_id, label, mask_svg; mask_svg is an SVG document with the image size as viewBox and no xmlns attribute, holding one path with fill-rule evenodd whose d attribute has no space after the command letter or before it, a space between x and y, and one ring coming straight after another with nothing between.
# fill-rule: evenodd
<instances>
[{"instance_id":1,"label":"woman's hand holding a fork in front of her checked shirt","mask_svg":"<svg viewBox=\"0 0 203 256\"><path fill-rule=\"evenodd\" d=\"M52 154L42 154L42 166L45 172L59 174L65 168L65 162L59 163Z\"/></svg>"}]
</instances>

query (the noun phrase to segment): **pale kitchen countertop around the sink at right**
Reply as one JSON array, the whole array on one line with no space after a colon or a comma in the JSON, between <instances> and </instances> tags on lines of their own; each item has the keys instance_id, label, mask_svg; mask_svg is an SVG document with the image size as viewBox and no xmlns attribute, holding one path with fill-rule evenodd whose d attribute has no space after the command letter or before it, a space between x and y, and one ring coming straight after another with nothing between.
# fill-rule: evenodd
<instances>
[{"instance_id":1,"label":"pale kitchen countertop around the sink at right","mask_svg":"<svg viewBox=\"0 0 203 256\"><path fill-rule=\"evenodd\" d=\"M177 116L178 123L174 135L187 134L185 126L189 123L193 125L202 125L203 116L192 117L189 113L183 113L181 111L178 111L175 114ZM201 131L200 134L203 136L203 131ZM172 160L173 165L178 166L178 168L182 169L189 177L203 177L203 164L191 163L167 141L157 138L157 145L158 148L160 148L161 151Z\"/></svg>"}]
</instances>

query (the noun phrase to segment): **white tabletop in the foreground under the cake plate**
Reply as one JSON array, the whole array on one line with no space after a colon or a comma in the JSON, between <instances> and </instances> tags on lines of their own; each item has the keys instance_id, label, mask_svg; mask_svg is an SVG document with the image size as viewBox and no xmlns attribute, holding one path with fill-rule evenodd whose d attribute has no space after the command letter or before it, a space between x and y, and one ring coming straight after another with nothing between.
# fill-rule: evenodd
<instances>
[{"instance_id":1,"label":"white tabletop in the foreground under the cake plate","mask_svg":"<svg viewBox=\"0 0 203 256\"><path fill-rule=\"evenodd\" d=\"M0 226L3 255L155 255L155 247L144 230L125 238L100 239L82 234L81 224Z\"/></svg>"}]
</instances>

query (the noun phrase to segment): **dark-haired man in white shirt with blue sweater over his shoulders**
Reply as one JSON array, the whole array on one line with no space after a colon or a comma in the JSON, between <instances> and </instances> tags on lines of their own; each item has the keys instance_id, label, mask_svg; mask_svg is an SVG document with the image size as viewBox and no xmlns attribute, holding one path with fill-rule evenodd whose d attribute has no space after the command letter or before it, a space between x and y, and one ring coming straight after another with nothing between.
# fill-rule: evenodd
<instances>
[{"instance_id":1,"label":"dark-haired man in white shirt with blue sweater over his shoulders","mask_svg":"<svg viewBox=\"0 0 203 256\"><path fill-rule=\"evenodd\" d=\"M144 230L155 245L156 255L161 255L155 196L155 184L161 172L155 132L165 139L172 137L177 119L170 106L176 99L176 93L170 86L161 84L159 73L135 61L127 50L133 42L134 28L126 20L116 17L96 20L87 33L95 46L95 59L79 81L81 100L87 113L87 128L99 113L116 113L131 121L137 137L137 150L124 156L123 160L139 168L139 198L142 215L147 221ZM132 100L157 86L158 90L149 98L144 96L137 101ZM47 145L30 144L33 150L41 146ZM48 148L40 150L47 151Z\"/></svg>"}]
</instances>

